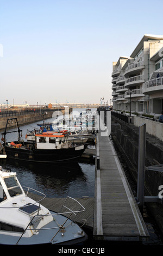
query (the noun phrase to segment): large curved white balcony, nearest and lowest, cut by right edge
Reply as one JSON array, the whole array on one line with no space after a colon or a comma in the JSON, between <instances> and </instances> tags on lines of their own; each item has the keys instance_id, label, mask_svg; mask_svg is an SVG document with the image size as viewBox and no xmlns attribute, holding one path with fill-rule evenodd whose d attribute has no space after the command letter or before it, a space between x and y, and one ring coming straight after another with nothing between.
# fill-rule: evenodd
<instances>
[{"instance_id":1,"label":"large curved white balcony, nearest and lowest, cut by right edge","mask_svg":"<svg viewBox=\"0 0 163 256\"><path fill-rule=\"evenodd\" d=\"M163 92L163 77L154 78L143 84L143 94L153 94Z\"/></svg>"}]
</instances>

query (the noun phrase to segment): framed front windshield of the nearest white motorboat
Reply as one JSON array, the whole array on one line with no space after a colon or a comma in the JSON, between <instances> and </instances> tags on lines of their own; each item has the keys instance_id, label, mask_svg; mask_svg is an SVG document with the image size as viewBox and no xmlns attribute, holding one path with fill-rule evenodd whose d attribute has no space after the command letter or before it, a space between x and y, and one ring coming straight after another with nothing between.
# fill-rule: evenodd
<instances>
[{"instance_id":1,"label":"framed front windshield of the nearest white motorboat","mask_svg":"<svg viewBox=\"0 0 163 256\"><path fill-rule=\"evenodd\" d=\"M18 185L18 182L15 176L4 178L4 181L5 181L5 185L7 186L10 197L15 197L15 196L18 196L19 194L22 194L22 190Z\"/></svg>"}]
</instances>

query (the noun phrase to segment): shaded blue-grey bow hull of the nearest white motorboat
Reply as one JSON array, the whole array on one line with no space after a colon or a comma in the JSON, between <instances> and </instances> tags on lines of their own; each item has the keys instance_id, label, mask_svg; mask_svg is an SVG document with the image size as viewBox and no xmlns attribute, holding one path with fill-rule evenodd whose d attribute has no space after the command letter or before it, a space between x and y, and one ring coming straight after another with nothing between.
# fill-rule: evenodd
<instances>
[{"instance_id":1,"label":"shaded blue-grey bow hull of the nearest white motorboat","mask_svg":"<svg viewBox=\"0 0 163 256\"><path fill-rule=\"evenodd\" d=\"M56 214L56 212L51 211L52 214ZM53 229L54 227L58 227L58 223L65 221L67 218L63 215L56 215L55 220L53 222L48 223L43 227L43 230L39 230L37 235L33 235L31 237L24 237L19 240L20 235L14 236L12 235L4 235L0 234L0 245L3 246L40 246L40 245L79 245L87 241L86 233L78 226L77 223L72 223L69 219L65 224L65 231L60 230L57 232L59 228ZM80 234L78 234L80 231ZM64 233L62 233L64 232ZM54 237L54 238L53 238Z\"/></svg>"}]
</instances>

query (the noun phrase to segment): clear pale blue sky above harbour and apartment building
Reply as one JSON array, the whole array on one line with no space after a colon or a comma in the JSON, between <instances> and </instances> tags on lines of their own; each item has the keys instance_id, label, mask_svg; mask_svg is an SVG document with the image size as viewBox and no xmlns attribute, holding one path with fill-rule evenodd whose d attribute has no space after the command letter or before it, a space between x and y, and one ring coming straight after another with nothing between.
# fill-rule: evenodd
<instances>
[{"instance_id":1,"label":"clear pale blue sky above harbour and apartment building","mask_svg":"<svg viewBox=\"0 0 163 256\"><path fill-rule=\"evenodd\" d=\"M0 0L0 104L101 103L112 62L162 35L162 0Z\"/></svg>"}]
</instances>

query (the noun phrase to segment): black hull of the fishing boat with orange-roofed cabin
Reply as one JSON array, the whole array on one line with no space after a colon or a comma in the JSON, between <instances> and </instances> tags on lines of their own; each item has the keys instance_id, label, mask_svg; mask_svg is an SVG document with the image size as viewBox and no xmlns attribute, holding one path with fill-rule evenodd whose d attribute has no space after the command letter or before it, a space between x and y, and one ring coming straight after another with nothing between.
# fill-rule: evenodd
<instances>
[{"instance_id":1,"label":"black hull of the fishing boat with orange-roofed cabin","mask_svg":"<svg viewBox=\"0 0 163 256\"><path fill-rule=\"evenodd\" d=\"M86 149L87 144L63 149L23 149L4 147L9 159L30 162L54 163L78 159Z\"/></svg>"}]
</instances>

